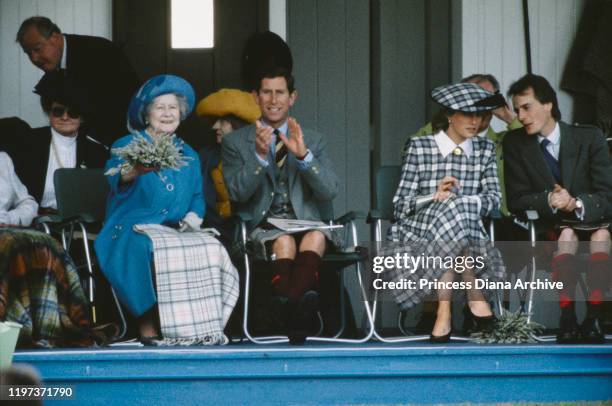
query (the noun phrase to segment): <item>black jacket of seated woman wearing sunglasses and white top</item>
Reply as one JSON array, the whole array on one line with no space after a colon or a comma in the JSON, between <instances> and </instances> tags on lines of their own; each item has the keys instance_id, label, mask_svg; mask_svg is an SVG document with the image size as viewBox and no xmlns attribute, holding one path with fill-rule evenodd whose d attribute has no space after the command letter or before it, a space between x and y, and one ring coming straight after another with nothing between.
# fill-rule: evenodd
<instances>
[{"instance_id":1,"label":"black jacket of seated woman wearing sunglasses and white top","mask_svg":"<svg viewBox=\"0 0 612 406\"><path fill-rule=\"evenodd\" d=\"M51 127L32 129L22 140L23 146L11 154L15 172L28 188L30 195L40 203L45 190L49 149L51 147ZM77 168L103 168L109 154L106 148L92 141L85 134L77 138Z\"/></svg>"}]
</instances>

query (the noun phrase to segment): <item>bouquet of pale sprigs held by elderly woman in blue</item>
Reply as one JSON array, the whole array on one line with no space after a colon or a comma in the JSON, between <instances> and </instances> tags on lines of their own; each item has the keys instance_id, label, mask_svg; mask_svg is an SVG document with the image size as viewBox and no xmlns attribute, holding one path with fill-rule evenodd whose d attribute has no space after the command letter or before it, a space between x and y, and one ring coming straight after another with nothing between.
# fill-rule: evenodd
<instances>
[{"instance_id":1,"label":"bouquet of pale sprigs held by elderly woman in blue","mask_svg":"<svg viewBox=\"0 0 612 406\"><path fill-rule=\"evenodd\" d=\"M174 169L186 166L191 157L182 153L183 141L175 142L176 135L160 135L153 142L138 134L125 147L113 148L112 153L125 160L124 163L110 168L104 174L107 176L126 173L140 165L153 168L158 173L162 169ZM178 145L177 145L178 144ZM162 179L163 180L163 179Z\"/></svg>"}]
</instances>

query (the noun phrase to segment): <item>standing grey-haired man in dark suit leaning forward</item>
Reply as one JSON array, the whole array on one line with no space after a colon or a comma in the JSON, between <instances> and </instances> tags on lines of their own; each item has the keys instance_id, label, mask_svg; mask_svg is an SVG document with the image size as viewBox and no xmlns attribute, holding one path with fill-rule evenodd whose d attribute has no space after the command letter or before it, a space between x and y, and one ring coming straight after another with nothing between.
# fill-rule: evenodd
<instances>
[{"instance_id":1,"label":"standing grey-haired man in dark suit leaning forward","mask_svg":"<svg viewBox=\"0 0 612 406\"><path fill-rule=\"evenodd\" d=\"M110 146L127 134L127 107L140 80L119 47L105 38L62 34L39 16L21 24L17 42L45 75L59 70L82 89L87 106L74 107L89 118L94 138Z\"/></svg>"}]
</instances>

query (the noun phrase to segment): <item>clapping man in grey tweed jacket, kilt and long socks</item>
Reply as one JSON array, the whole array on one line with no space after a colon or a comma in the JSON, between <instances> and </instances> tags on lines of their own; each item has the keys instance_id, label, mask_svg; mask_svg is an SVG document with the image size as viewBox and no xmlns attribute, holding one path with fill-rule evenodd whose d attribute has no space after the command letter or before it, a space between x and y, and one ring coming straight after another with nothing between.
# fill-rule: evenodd
<instances>
[{"instance_id":1,"label":"clapping man in grey tweed jacket, kilt and long socks","mask_svg":"<svg viewBox=\"0 0 612 406\"><path fill-rule=\"evenodd\" d=\"M248 223L251 239L271 244L272 284L283 312L289 309L293 320L304 321L318 301L313 288L325 235L313 230L296 237L270 227L266 220L320 220L319 204L336 196L338 179L327 157L325 137L302 130L289 117L297 92L287 70L274 68L262 75L253 97L261 119L222 140L225 184L233 207L253 217Z\"/></svg>"}]
</instances>

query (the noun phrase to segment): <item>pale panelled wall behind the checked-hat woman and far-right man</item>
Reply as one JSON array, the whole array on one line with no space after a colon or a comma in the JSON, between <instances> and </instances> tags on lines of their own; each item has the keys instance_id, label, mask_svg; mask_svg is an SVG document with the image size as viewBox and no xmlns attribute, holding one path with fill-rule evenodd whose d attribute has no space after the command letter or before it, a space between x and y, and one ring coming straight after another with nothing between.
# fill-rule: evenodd
<instances>
[{"instance_id":1,"label":"pale panelled wall behind the checked-hat woman and far-right man","mask_svg":"<svg viewBox=\"0 0 612 406\"><path fill-rule=\"evenodd\" d=\"M565 119L572 117L572 99L560 90L561 75L585 0L531 0L531 59L533 73L546 77L557 91ZM505 94L527 73L521 0L463 0L462 64L459 77L492 73ZM493 126L501 129L500 122Z\"/></svg>"}]
</instances>

